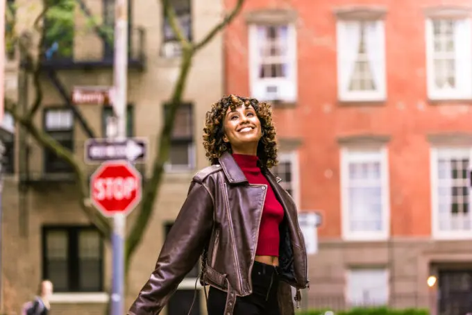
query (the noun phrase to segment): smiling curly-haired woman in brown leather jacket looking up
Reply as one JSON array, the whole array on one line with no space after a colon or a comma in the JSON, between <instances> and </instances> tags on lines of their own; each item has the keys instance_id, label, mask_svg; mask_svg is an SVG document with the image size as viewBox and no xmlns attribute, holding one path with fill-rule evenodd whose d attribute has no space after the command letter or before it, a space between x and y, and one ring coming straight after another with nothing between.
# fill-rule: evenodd
<instances>
[{"instance_id":1,"label":"smiling curly-haired woman in brown leather jacket looking up","mask_svg":"<svg viewBox=\"0 0 472 315\"><path fill-rule=\"evenodd\" d=\"M269 171L277 158L270 105L224 97L207 113L203 140L212 166L194 176L128 314L159 314L200 255L209 315L294 314L289 286L299 303L307 257L296 206Z\"/></svg>"}]
</instances>

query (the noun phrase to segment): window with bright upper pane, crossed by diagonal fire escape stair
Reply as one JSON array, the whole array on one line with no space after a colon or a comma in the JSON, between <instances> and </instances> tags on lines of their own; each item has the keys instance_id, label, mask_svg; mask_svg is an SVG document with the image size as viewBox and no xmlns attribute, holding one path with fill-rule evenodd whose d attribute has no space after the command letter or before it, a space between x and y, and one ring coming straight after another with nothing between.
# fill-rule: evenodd
<instances>
[{"instance_id":1,"label":"window with bright upper pane, crossed by diagonal fire escape stair","mask_svg":"<svg viewBox=\"0 0 472 315\"><path fill-rule=\"evenodd\" d=\"M44 130L65 148L74 151L74 114L67 108L44 110ZM45 171L47 173L69 173L72 168L56 153L44 149Z\"/></svg>"}]
</instances>

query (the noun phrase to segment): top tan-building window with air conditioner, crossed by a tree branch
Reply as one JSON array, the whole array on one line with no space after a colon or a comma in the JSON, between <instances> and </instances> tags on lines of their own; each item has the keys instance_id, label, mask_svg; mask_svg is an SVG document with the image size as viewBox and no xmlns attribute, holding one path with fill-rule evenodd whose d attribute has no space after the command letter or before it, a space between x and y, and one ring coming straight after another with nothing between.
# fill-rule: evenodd
<instances>
[{"instance_id":1,"label":"top tan-building window with air conditioner, crossed by a tree branch","mask_svg":"<svg viewBox=\"0 0 472 315\"><path fill-rule=\"evenodd\" d=\"M184 37L187 40L192 40L192 10L190 8L190 0L169 0L167 1L170 6L172 6L176 12L178 25L183 31ZM162 8L162 13L164 15L163 26L162 26L162 37L163 44L161 49L161 55L166 58L178 57L182 52L180 47L180 42L172 30L167 17L165 17L165 7Z\"/></svg>"}]
</instances>

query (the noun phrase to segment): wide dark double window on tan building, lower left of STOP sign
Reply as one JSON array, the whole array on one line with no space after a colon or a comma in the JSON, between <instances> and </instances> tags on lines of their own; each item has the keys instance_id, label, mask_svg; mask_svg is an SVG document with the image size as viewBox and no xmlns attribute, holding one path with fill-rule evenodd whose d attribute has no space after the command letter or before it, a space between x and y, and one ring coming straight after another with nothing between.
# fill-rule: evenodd
<instances>
[{"instance_id":1,"label":"wide dark double window on tan building, lower left of STOP sign","mask_svg":"<svg viewBox=\"0 0 472 315\"><path fill-rule=\"evenodd\" d=\"M95 228L45 226L42 249L42 276L54 291L103 291L103 240Z\"/></svg>"}]
</instances>

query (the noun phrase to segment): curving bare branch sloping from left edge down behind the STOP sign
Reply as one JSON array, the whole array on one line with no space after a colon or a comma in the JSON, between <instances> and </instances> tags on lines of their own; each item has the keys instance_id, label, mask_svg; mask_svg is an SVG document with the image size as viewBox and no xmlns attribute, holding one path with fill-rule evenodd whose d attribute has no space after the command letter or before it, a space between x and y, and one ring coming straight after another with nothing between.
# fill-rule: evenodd
<instances>
[{"instance_id":1,"label":"curving bare branch sloping from left edge down behind the STOP sign","mask_svg":"<svg viewBox=\"0 0 472 315\"><path fill-rule=\"evenodd\" d=\"M83 176L83 172L78 162L76 161L76 157L74 156L74 153L67 150L67 148L64 148L64 146L59 144L55 139L53 139L53 137L49 136L47 133L44 133L40 129L38 129L33 124L31 119L28 119L27 117L24 117L22 114L20 114L19 111L17 110L15 103L12 102L10 99L5 99L5 110L7 112L10 112L10 114L12 114L12 117L15 119L15 121L21 124L28 131L28 134L33 136L33 138L36 140L38 144L40 144L44 148L47 148L53 151L54 153L56 153L56 155L58 155L58 157L65 160L68 164L70 164L74 168L74 174L76 175L76 179L77 179L78 193L81 198L80 204L81 204L82 209L87 215L87 218L94 225L96 225L96 228L99 230L101 235L103 235L103 237L105 237L106 239L110 239L110 234L111 234L110 223L90 204L90 201L87 198L87 180Z\"/></svg>"}]
</instances>

